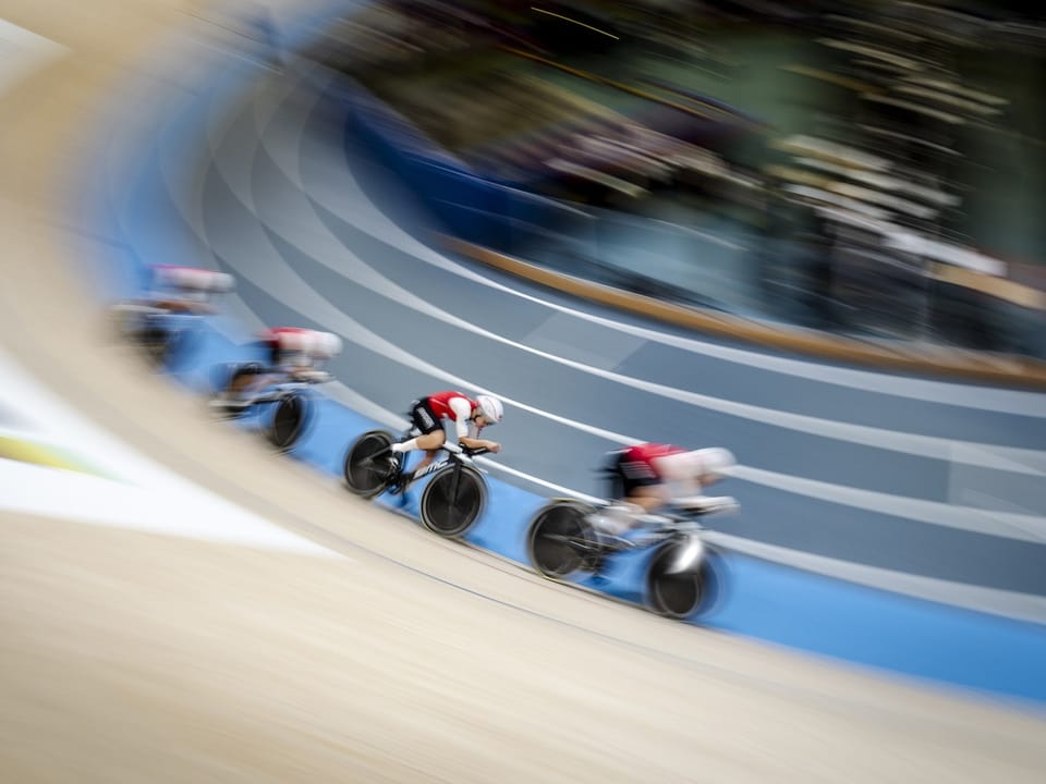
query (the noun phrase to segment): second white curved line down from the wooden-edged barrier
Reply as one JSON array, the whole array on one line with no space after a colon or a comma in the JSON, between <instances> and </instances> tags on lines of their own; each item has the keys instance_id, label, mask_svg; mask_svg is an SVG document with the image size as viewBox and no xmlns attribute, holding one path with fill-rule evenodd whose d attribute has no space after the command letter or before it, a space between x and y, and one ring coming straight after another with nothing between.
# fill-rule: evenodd
<instances>
[{"instance_id":1,"label":"second white curved line down from the wooden-edged barrier","mask_svg":"<svg viewBox=\"0 0 1046 784\"><path fill-rule=\"evenodd\" d=\"M246 147L246 143L243 145ZM229 176L222 174L226 185L241 204L248 209L252 215L258 216L252 194L244 194L245 187L250 188L247 183L230 181ZM354 285L362 285L370 291L381 294L404 307L430 316L431 318L443 321L459 329L481 335L485 339L496 341L516 351L522 351L533 356L540 357L548 362L554 362L565 367L596 376L615 383L619 383L633 389L655 394L658 396L676 400L678 402L694 405L707 411L715 411L730 416L757 421L761 424L775 425L803 433L811 433L824 438L830 438L847 443L860 443L877 449L885 449L907 454L931 457L934 460L969 462L971 465L980 467L992 467L998 470L1008 470L1019 474L1030 474L1032 476L1046 477L1046 452L1037 450L1026 450L1013 446L996 446L994 444L982 444L976 442L964 442L952 439L944 439L933 436L919 436L913 433L885 430L863 425L851 425L830 419L820 419L818 417L806 416L802 414L791 414L762 406L755 406L747 403L735 403L733 401L713 397L710 395L700 394L680 390L665 384L658 384L652 381L644 381L630 376L597 368L584 363L558 356L550 352L540 351L534 346L510 340L503 335L489 332L487 329L478 327L453 314L447 313L435 305L417 296L414 292L406 290L385 278L373 267L365 264L352 250L345 248L342 243L330 232L330 230L319 220L309 209L309 206L302 199L301 209L292 212L284 210L279 216L272 217L276 221L276 229L281 236L292 243L303 253L307 254L316 262L337 272L351 281ZM260 218L259 218L259 222ZM266 223L269 225L269 223ZM271 247L271 243L266 244ZM278 252L273 248L273 254L280 260L275 262L281 267L290 267L282 260ZM271 281L266 279L269 265L250 265L246 268L241 267L240 273L257 283L266 291L283 291L273 289ZM297 273L293 272L297 278ZM300 280L300 278L299 278ZM296 286L299 291L312 289L307 285ZM303 293L304 296L304 293ZM304 298L293 304L287 299L284 302L302 314L308 314L311 318L317 319L328 329L332 328L332 322L325 322L318 319L312 305ZM335 331L338 331L337 329ZM348 333L341 332L342 336L352 339Z\"/></svg>"}]
</instances>

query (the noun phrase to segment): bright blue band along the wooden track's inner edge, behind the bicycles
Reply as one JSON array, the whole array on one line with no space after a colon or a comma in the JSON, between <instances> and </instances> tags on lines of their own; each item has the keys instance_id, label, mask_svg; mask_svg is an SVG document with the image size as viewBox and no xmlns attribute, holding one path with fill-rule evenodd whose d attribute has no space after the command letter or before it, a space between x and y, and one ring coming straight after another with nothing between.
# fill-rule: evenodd
<instances>
[{"instance_id":1,"label":"bright blue band along the wooden track's inner edge, behind the bicycles","mask_svg":"<svg viewBox=\"0 0 1046 784\"><path fill-rule=\"evenodd\" d=\"M340 5L340 4L339 4ZM224 65L223 71L217 70ZM111 187L109 205L96 200L92 187L86 206L98 233L111 241L111 252L98 259L105 298L126 296L143 282L145 264L209 265L187 232L177 205L163 183L171 145L184 155L183 175L192 176L206 133L208 113L222 101L236 98L258 75L257 68L218 63L207 89L191 100L160 107L158 133L139 146L119 150L115 166L102 156L88 166L88 183L105 182L115 170L124 173ZM161 148L163 156L161 157ZM134 160L137 166L129 166ZM136 170L133 176L126 172ZM220 329L219 329L220 328ZM234 341L226 335L234 335ZM251 335L228 320L211 322L205 339L173 368L172 376L194 392L209 389L216 365L250 358ZM656 363L656 357L650 359ZM351 378L341 380L353 385ZM802 401L796 401L801 405ZM844 404L841 401L840 404ZM262 414L264 419L264 413ZM241 427L257 427L247 418ZM216 427L219 425L216 424ZM317 417L291 458L303 461L332 476L341 475L345 449L361 432L378 422L330 401L321 400ZM259 445L260 448L260 445ZM524 532L534 512L546 499L520 487L488 477L487 511L469 540L507 559L525 563ZM405 511L416 516L419 488L409 497ZM742 501L745 499L742 498ZM398 509L387 498L377 503ZM390 517L389 525L399 525ZM903 541L897 546L904 547ZM642 598L643 556L622 559L600 587L629 601ZM723 562L729 590L715 613L702 623L771 642L804 649L907 675L947 682L997 696L1046 703L1046 629L995 616L958 610L899 595L819 577L739 554Z\"/></svg>"}]
</instances>

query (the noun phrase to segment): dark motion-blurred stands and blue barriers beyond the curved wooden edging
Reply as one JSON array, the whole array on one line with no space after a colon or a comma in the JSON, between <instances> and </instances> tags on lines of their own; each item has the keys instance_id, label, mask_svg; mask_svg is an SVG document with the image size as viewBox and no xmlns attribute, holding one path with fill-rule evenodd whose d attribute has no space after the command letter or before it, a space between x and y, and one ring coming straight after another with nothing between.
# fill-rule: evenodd
<instances>
[{"instance_id":1,"label":"dark motion-blurred stands and blue barriers beyond the curved wooden edging","mask_svg":"<svg viewBox=\"0 0 1046 784\"><path fill-rule=\"evenodd\" d=\"M462 238L741 315L1043 358L1027 14L408 0L312 57L374 97L375 132L400 135L387 162Z\"/></svg>"}]
</instances>

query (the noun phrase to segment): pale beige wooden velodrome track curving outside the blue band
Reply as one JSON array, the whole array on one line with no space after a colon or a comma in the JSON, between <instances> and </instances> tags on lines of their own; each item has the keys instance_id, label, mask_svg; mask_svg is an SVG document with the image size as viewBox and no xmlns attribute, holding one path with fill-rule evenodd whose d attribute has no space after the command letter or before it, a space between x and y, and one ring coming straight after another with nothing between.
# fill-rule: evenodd
<instances>
[{"instance_id":1,"label":"pale beige wooden velodrome track curving outside the blue band","mask_svg":"<svg viewBox=\"0 0 1046 784\"><path fill-rule=\"evenodd\" d=\"M186 11L209 12L0 1L72 50L2 99L4 344L120 438L342 556L4 516L0 781L1043 781L1039 716L560 589L217 428L106 345L63 172Z\"/></svg>"}]
</instances>

